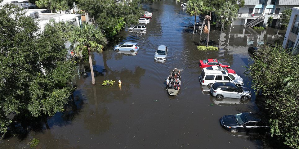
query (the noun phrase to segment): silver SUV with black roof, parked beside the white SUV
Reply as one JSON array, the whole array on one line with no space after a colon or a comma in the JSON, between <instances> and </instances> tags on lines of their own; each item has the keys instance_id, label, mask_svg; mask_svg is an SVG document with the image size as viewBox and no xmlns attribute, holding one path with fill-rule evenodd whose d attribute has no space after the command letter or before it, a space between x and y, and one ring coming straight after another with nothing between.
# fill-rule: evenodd
<instances>
[{"instance_id":1,"label":"silver SUV with black roof, parked beside the white SUV","mask_svg":"<svg viewBox=\"0 0 299 149\"><path fill-rule=\"evenodd\" d=\"M214 83L210 89L210 93L218 100L222 100L223 98L238 98L242 101L247 101L251 98L251 91L249 88L231 82Z\"/></svg>"}]
</instances>

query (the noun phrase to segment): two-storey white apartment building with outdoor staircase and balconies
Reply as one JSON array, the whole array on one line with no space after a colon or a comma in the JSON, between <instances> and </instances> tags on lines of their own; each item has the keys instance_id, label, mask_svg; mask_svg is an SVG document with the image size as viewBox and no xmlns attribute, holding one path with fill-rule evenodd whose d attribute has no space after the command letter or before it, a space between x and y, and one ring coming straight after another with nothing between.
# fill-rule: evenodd
<instances>
[{"instance_id":1,"label":"two-storey white apartment building with outdoor staircase and balconies","mask_svg":"<svg viewBox=\"0 0 299 149\"><path fill-rule=\"evenodd\" d=\"M268 18L272 16L271 27L278 27L282 11L292 7L299 7L299 0L245 0L245 5L239 9L234 24L244 25L244 27L256 25L265 27Z\"/></svg>"}]
</instances>

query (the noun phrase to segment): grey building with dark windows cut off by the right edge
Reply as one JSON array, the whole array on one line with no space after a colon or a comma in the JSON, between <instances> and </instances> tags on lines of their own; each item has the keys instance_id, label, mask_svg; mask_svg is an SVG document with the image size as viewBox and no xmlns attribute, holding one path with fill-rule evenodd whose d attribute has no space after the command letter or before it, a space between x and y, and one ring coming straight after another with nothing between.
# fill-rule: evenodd
<instances>
[{"instance_id":1,"label":"grey building with dark windows cut off by the right edge","mask_svg":"<svg viewBox=\"0 0 299 149\"><path fill-rule=\"evenodd\" d=\"M292 15L286 31L283 47L288 49L292 48L292 54L299 53L299 7L292 8Z\"/></svg>"}]
</instances>

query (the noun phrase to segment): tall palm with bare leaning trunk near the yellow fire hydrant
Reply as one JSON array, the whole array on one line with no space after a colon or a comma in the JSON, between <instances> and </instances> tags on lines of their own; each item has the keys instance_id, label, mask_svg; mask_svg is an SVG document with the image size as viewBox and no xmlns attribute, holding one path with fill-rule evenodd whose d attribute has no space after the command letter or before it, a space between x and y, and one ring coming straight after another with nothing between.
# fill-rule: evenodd
<instances>
[{"instance_id":1,"label":"tall palm with bare leaning trunk near the yellow fire hydrant","mask_svg":"<svg viewBox=\"0 0 299 149\"><path fill-rule=\"evenodd\" d=\"M84 47L87 47L92 84L96 84L91 52L103 52L104 45L108 43L107 39L95 25L83 23L82 28L78 26L74 29L69 41L77 44L74 48L75 53L81 53Z\"/></svg>"}]
</instances>

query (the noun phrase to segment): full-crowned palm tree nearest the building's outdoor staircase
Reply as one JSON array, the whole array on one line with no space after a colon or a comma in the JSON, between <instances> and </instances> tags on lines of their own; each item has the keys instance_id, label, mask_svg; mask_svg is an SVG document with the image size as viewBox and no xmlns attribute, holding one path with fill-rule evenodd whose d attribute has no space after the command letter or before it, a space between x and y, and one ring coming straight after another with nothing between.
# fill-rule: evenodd
<instances>
[{"instance_id":1,"label":"full-crowned palm tree nearest the building's outdoor staircase","mask_svg":"<svg viewBox=\"0 0 299 149\"><path fill-rule=\"evenodd\" d=\"M221 33L222 30L224 29L224 25L231 24L232 21L238 17L238 10L239 7L229 1L221 5L218 11L216 11L217 19L221 23L221 31L220 31L218 48L220 47Z\"/></svg>"}]
</instances>

